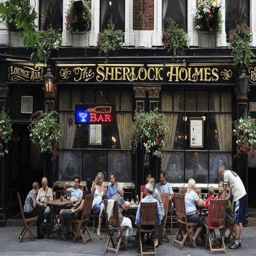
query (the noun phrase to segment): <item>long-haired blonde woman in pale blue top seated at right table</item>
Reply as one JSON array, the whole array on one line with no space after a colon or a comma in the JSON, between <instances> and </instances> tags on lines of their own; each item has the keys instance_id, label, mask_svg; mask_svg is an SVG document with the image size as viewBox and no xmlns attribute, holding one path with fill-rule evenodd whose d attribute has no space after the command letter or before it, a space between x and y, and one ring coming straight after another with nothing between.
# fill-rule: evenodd
<instances>
[{"instance_id":1,"label":"long-haired blonde woman in pale blue top seated at right table","mask_svg":"<svg viewBox=\"0 0 256 256\"><path fill-rule=\"evenodd\" d=\"M196 222L198 225L196 225L196 231L194 233L194 244L196 243L196 239L198 238L199 234L202 230L204 230L204 233L206 231L206 228L204 227L204 224L202 223L201 218L199 217L196 206L198 207L204 207L204 203L199 200L198 194L196 194L196 182L191 178L188 181L188 189L186 190L185 194L185 204L186 204L186 218L188 222Z\"/></svg>"}]
</instances>

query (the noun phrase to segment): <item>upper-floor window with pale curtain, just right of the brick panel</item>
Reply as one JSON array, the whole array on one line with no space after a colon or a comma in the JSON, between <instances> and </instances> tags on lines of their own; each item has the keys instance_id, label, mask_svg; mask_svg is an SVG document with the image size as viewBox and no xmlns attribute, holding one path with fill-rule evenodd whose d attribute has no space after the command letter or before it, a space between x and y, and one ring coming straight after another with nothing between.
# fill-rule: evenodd
<instances>
[{"instance_id":1,"label":"upper-floor window with pale curtain, just right of the brick panel","mask_svg":"<svg viewBox=\"0 0 256 256\"><path fill-rule=\"evenodd\" d=\"M187 0L162 0L162 27L167 27L167 19L172 18L180 28L186 30Z\"/></svg>"}]
</instances>

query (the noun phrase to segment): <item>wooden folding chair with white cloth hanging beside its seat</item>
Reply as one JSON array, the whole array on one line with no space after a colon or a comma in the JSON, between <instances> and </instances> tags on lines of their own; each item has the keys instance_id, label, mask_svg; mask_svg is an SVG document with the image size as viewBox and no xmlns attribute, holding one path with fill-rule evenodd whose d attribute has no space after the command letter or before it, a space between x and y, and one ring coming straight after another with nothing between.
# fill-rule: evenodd
<instances>
[{"instance_id":1,"label":"wooden folding chair with white cloth hanging beside its seat","mask_svg":"<svg viewBox=\"0 0 256 256\"><path fill-rule=\"evenodd\" d=\"M108 200L104 199L104 203L105 203L105 215L106 215L106 223L107 223L106 225L108 227L108 241L106 242L105 252L107 252L107 250L111 250L113 252L116 252L116 255L118 255L120 247L123 247L124 249L127 250L126 241L124 239L124 231L126 230L127 227L121 226L119 212L118 212L118 201L114 201L113 214L110 217L110 220L108 220L108 212L107 212ZM113 240L114 230L119 230L120 232L118 244L115 244ZM109 246L110 241L113 247Z\"/></svg>"}]
</instances>

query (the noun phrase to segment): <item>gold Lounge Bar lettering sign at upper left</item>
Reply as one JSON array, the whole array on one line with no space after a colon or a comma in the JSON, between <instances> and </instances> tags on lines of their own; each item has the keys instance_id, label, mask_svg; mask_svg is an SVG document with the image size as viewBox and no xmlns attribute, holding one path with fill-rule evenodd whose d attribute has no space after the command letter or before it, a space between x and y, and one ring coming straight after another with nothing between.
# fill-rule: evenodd
<instances>
[{"instance_id":1,"label":"gold Lounge Bar lettering sign at upper left","mask_svg":"<svg viewBox=\"0 0 256 256\"><path fill-rule=\"evenodd\" d=\"M7 68L8 79L12 82L26 81L39 82L43 81L43 69L41 66L9 66Z\"/></svg>"}]
</instances>

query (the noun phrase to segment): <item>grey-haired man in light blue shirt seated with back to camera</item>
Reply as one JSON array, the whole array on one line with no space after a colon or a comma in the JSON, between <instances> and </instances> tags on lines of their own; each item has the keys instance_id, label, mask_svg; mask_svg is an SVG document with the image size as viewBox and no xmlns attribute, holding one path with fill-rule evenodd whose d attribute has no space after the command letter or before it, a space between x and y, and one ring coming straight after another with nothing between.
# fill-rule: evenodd
<instances>
[{"instance_id":1,"label":"grey-haired man in light blue shirt seated with back to camera","mask_svg":"<svg viewBox=\"0 0 256 256\"><path fill-rule=\"evenodd\" d=\"M153 198L153 191L154 191L153 185L151 183L147 183L146 184L146 197L143 198L140 201L140 203L141 202L158 202L158 200ZM161 210L160 210L160 207L159 207L159 202L158 202L158 205L157 205L157 212L158 212L158 214L157 214L156 224L161 225ZM140 204L138 205L135 225L136 226L140 225ZM156 246L158 246L158 239L154 238L154 244Z\"/></svg>"}]
</instances>

